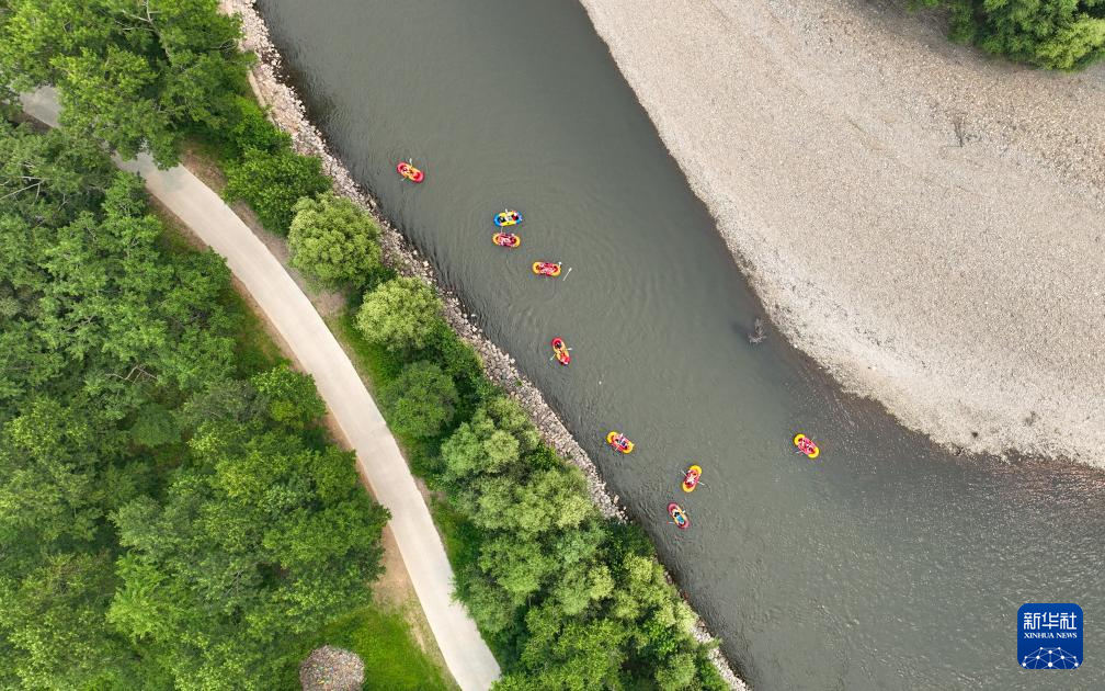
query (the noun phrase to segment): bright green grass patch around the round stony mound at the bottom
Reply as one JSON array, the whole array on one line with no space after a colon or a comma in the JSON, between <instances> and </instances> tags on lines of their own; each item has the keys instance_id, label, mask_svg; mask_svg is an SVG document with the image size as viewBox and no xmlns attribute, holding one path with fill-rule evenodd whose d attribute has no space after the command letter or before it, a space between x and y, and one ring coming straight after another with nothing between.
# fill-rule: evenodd
<instances>
[{"instance_id":1,"label":"bright green grass patch around the round stony mound at the bottom","mask_svg":"<svg viewBox=\"0 0 1105 691\"><path fill-rule=\"evenodd\" d=\"M332 621L299 641L294 660L307 657L315 648L329 643L352 650L365 661L365 691L448 691L454 687L410 635L402 614L377 606L362 607ZM296 679L288 689L298 688Z\"/></svg>"}]
</instances>

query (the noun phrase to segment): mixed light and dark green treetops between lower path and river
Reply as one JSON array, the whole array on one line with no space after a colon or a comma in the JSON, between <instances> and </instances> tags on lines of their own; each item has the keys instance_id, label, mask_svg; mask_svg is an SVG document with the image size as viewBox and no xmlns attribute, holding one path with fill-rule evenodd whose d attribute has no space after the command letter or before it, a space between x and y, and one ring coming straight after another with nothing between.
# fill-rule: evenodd
<instances>
[{"instance_id":1,"label":"mixed light and dark green treetops between lower path and river","mask_svg":"<svg viewBox=\"0 0 1105 691\"><path fill-rule=\"evenodd\" d=\"M598 515L582 475L541 446L517 404L487 399L441 459L438 478L478 535L457 594L517 656L496 688L619 689L642 678L724 688L648 540Z\"/></svg>"}]
</instances>

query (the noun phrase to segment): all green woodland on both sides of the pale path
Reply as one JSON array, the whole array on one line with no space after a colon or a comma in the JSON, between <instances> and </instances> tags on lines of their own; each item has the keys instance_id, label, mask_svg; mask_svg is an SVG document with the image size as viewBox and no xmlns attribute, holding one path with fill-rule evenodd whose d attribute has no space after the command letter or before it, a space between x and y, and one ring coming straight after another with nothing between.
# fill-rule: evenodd
<instances>
[{"instance_id":1,"label":"all green woodland on both sides of the pale path","mask_svg":"<svg viewBox=\"0 0 1105 691\"><path fill-rule=\"evenodd\" d=\"M43 84L63 106L62 129L4 123L0 144L0 683L281 685L297 637L380 573L387 513L313 383L106 154L169 166L192 142L293 265L349 295L333 326L436 496L497 688L725 688L644 533L598 514L433 290L382 264L375 220L267 121L239 31L214 0L0 1L8 117Z\"/></svg>"}]
</instances>

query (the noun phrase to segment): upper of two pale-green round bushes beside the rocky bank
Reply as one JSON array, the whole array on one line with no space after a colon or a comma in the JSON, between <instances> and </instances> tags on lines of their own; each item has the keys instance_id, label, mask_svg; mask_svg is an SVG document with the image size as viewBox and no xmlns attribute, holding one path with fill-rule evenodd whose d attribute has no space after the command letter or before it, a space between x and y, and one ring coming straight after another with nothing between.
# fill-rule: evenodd
<instances>
[{"instance_id":1,"label":"upper of two pale-green round bushes beside the rocky bank","mask_svg":"<svg viewBox=\"0 0 1105 691\"><path fill-rule=\"evenodd\" d=\"M380 269L380 229L345 197L324 192L295 205L287 234L292 265L329 289L360 287Z\"/></svg>"}]
</instances>

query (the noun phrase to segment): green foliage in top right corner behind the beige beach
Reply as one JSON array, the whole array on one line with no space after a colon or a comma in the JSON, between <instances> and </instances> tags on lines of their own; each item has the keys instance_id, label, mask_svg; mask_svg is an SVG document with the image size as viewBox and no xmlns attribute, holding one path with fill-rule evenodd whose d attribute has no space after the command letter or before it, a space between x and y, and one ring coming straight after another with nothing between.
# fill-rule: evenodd
<instances>
[{"instance_id":1,"label":"green foliage in top right corner behind the beige beach","mask_svg":"<svg viewBox=\"0 0 1105 691\"><path fill-rule=\"evenodd\" d=\"M1105 56L1105 0L920 0L949 8L951 34L1013 60L1080 70Z\"/></svg>"}]
</instances>

